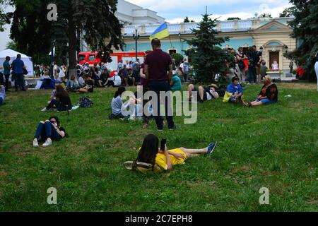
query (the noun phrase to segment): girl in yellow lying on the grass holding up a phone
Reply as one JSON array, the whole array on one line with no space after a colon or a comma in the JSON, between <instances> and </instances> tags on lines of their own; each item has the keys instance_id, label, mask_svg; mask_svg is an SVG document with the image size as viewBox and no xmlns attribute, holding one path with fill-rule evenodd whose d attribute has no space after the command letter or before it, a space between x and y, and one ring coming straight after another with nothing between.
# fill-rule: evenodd
<instances>
[{"instance_id":1,"label":"girl in yellow lying on the grass holding up a phone","mask_svg":"<svg viewBox=\"0 0 318 226\"><path fill-rule=\"evenodd\" d=\"M143 167L137 163L133 167L143 173L171 170L173 166L182 164L192 155L211 155L216 145L217 142L213 142L207 148L202 149L176 148L172 150L168 150L167 145L165 145L165 150L160 150L158 136L149 134L144 138L136 159L136 162L143 162L149 166Z\"/></svg>"}]
</instances>

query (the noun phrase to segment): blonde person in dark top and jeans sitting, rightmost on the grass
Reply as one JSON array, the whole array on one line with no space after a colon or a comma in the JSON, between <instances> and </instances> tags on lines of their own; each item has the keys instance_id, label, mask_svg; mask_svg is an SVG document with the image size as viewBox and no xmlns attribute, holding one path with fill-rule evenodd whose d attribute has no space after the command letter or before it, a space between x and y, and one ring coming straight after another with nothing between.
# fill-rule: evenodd
<instances>
[{"instance_id":1,"label":"blonde person in dark top and jeans sitting, rightmost on the grass","mask_svg":"<svg viewBox=\"0 0 318 226\"><path fill-rule=\"evenodd\" d=\"M257 107L261 105L269 105L278 102L278 89L277 86L271 81L271 76L263 78L264 86L261 88L261 93L257 100L245 103L248 107Z\"/></svg>"}]
</instances>

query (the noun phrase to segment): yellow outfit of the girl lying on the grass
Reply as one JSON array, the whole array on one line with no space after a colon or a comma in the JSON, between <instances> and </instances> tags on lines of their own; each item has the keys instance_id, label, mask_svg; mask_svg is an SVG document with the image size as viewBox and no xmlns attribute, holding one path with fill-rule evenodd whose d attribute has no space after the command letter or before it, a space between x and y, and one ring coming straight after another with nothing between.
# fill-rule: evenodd
<instances>
[{"instance_id":1,"label":"yellow outfit of the girl lying on the grass","mask_svg":"<svg viewBox=\"0 0 318 226\"><path fill-rule=\"evenodd\" d=\"M180 150L179 148L176 149L172 149L169 150L172 153L180 153L182 154L185 158L187 158L187 154L184 153L182 150ZM170 157L170 161L172 165L179 165L182 164L185 160L184 159L177 159L175 156L173 155L169 155ZM147 173L147 172L151 172L152 169L145 169L143 167L137 167L137 169L142 172L142 173ZM157 156L155 157L155 167L153 168L154 172L163 172L167 170L167 161L165 158L165 154L161 154L158 153Z\"/></svg>"}]
</instances>

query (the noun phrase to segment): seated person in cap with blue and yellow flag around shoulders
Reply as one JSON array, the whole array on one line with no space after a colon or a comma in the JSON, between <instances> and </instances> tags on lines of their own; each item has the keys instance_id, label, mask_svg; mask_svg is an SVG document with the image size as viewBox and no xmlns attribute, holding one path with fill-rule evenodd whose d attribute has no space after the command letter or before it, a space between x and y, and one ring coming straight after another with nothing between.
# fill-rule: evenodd
<instances>
[{"instance_id":1,"label":"seated person in cap with blue and yellow flag around shoulders","mask_svg":"<svg viewBox=\"0 0 318 226\"><path fill-rule=\"evenodd\" d=\"M233 77L232 83L230 83L228 85L228 88L226 88L223 102L244 104L242 98L243 98L243 88L240 85L240 78Z\"/></svg>"}]
</instances>

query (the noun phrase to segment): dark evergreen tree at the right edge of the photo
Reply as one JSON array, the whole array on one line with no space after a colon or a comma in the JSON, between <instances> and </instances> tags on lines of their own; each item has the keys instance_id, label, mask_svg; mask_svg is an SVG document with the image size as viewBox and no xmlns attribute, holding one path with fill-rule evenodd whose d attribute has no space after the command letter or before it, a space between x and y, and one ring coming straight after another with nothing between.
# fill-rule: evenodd
<instances>
[{"instance_id":1,"label":"dark evergreen tree at the right edge of the photo","mask_svg":"<svg viewBox=\"0 0 318 226\"><path fill-rule=\"evenodd\" d=\"M291 37L301 41L296 49L285 57L305 62L305 78L315 81L314 56L318 51L318 4L317 1L290 0L294 6L288 11L295 17L288 22L293 33Z\"/></svg>"}]
</instances>

